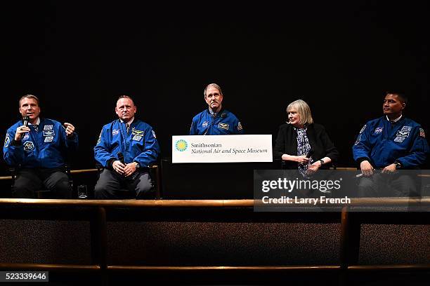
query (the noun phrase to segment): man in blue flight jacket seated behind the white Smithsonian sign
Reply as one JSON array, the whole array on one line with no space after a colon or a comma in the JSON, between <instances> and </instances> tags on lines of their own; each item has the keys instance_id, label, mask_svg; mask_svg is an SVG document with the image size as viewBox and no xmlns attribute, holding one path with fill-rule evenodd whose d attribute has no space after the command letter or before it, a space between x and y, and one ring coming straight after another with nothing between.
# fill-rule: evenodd
<instances>
[{"instance_id":1,"label":"man in blue flight jacket seated behind the white Smithsonian sign","mask_svg":"<svg viewBox=\"0 0 430 286\"><path fill-rule=\"evenodd\" d=\"M190 135L243 134L242 125L237 117L222 107L221 87L216 83L211 83L204 88L203 94L209 109L194 116Z\"/></svg>"}]
</instances>

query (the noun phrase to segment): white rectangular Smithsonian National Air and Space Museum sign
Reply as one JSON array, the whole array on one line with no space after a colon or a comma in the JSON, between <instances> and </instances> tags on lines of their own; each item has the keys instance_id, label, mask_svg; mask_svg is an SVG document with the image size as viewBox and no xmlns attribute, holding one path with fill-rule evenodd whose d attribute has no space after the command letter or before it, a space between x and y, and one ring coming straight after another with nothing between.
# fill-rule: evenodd
<instances>
[{"instance_id":1,"label":"white rectangular Smithsonian National Air and Space Museum sign","mask_svg":"<svg viewBox=\"0 0 430 286\"><path fill-rule=\"evenodd\" d=\"M272 135L171 137L172 163L273 162Z\"/></svg>"}]
</instances>

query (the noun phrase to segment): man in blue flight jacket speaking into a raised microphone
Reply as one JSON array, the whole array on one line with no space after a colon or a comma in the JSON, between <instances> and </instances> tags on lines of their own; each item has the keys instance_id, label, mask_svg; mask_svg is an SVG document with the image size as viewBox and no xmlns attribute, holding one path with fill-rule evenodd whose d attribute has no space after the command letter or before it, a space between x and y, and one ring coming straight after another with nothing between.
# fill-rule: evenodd
<instances>
[{"instance_id":1,"label":"man in blue flight jacket speaking into a raised microphone","mask_svg":"<svg viewBox=\"0 0 430 286\"><path fill-rule=\"evenodd\" d=\"M39 99L34 95L22 96L19 107L25 119L8 129L3 148L6 163L18 170L13 196L35 198L35 192L45 187L56 198L72 198L64 165L67 153L77 149L74 126L40 118Z\"/></svg>"}]
</instances>

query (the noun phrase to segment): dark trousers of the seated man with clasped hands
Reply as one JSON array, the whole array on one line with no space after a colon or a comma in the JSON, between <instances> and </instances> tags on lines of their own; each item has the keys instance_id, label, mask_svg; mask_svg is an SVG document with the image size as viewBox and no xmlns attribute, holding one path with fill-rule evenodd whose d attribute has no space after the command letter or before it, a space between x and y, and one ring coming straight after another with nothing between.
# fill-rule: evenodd
<instances>
[{"instance_id":1,"label":"dark trousers of the seated man with clasped hands","mask_svg":"<svg viewBox=\"0 0 430 286\"><path fill-rule=\"evenodd\" d=\"M115 200L122 198L155 198L152 180L147 171L135 172L130 177L113 170L103 170L94 187L94 198Z\"/></svg>"}]
</instances>

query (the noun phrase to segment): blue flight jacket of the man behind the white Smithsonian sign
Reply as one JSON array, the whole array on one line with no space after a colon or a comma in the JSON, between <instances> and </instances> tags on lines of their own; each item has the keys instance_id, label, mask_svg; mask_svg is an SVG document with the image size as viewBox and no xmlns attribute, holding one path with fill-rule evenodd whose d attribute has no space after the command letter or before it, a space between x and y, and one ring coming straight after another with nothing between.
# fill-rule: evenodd
<instances>
[{"instance_id":1,"label":"blue flight jacket of the man behind the white Smithsonian sign","mask_svg":"<svg viewBox=\"0 0 430 286\"><path fill-rule=\"evenodd\" d=\"M211 114L206 109L193 118L190 135L232 135L243 134L239 119L226 109Z\"/></svg>"}]
</instances>

